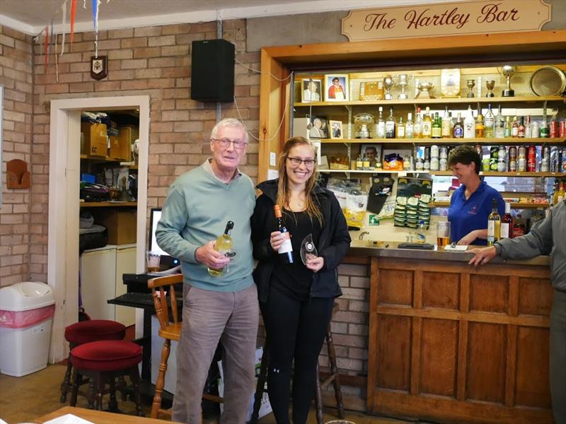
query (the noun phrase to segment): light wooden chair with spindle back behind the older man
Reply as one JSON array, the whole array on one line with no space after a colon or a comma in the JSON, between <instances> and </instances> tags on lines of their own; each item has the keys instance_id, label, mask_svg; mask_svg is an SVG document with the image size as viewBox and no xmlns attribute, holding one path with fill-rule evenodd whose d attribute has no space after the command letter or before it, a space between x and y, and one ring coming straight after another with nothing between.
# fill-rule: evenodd
<instances>
[{"instance_id":1,"label":"light wooden chair with spindle back behind the older man","mask_svg":"<svg viewBox=\"0 0 566 424\"><path fill-rule=\"evenodd\" d=\"M151 404L151 418L158 418L159 414L171 416L171 409L161 408L161 396L165 386L165 373L169 353L171 353L171 341L179 341L181 333L181 322L177 307L177 296L175 295L175 284L183 283L183 274L173 274L151 278L147 286L151 288L154 298L155 312L159 320L159 336L163 337L163 348L161 348L161 362L159 363L159 373L155 383L154 402ZM167 289L168 286L168 289ZM171 315L169 312L171 311ZM203 394L202 399L207 399L216 403L224 401L219 396Z\"/></svg>"}]
</instances>

